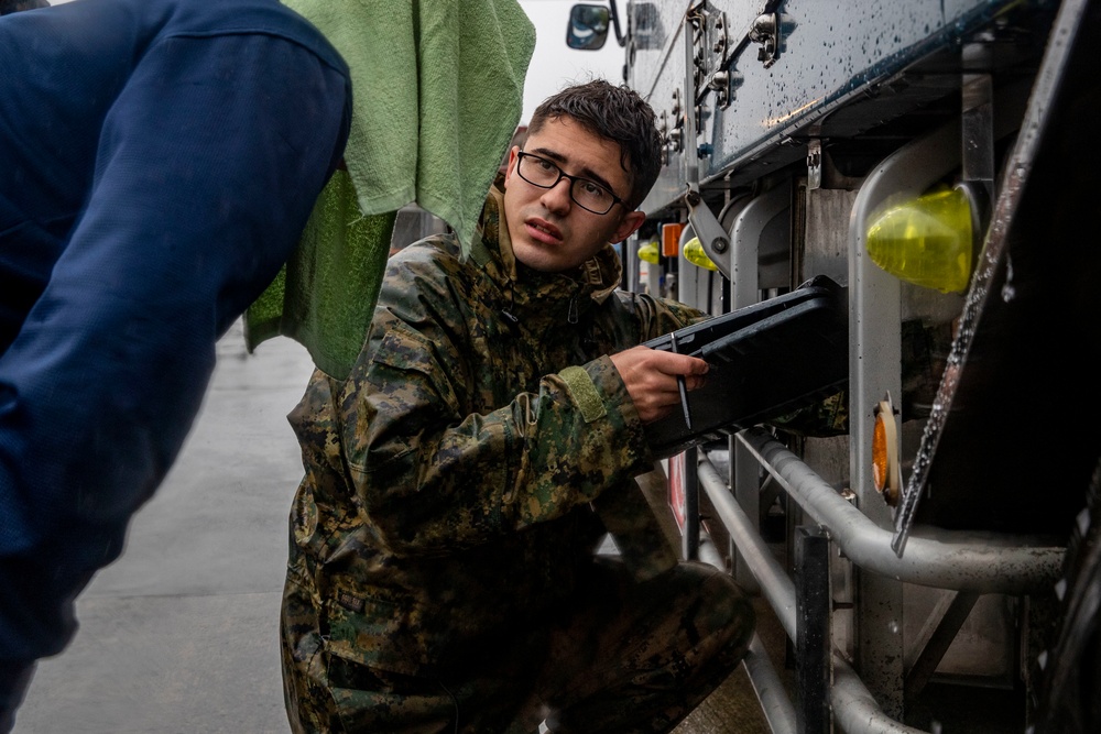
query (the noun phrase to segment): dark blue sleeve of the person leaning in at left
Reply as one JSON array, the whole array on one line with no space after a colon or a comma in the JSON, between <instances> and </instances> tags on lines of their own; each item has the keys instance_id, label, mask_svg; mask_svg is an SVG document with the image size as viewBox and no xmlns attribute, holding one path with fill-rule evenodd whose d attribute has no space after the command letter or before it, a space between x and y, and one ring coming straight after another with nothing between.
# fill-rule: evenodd
<instances>
[{"instance_id":1,"label":"dark blue sleeve of the person leaning in at left","mask_svg":"<svg viewBox=\"0 0 1101 734\"><path fill-rule=\"evenodd\" d=\"M217 338L339 158L348 92L305 46L236 33L150 48L119 95L87 206L0 357L0 667L72 638L76 595L190 429Z\"/></svg>"}]
</instances>

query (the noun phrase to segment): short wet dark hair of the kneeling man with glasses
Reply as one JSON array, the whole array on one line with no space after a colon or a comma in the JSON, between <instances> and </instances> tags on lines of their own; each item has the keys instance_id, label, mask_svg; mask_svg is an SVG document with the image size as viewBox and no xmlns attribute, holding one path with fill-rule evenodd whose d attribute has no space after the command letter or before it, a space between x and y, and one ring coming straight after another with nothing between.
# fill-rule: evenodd
<instances>
[{"instance_id":1,"label":"short wet dark hair of the kneeling man with glasses","mask_svg":"<svg viewBox=\"0 0 1101 734\"><path fill-rule=\"evenodd\" d=\"M628 208L642 204L662 169L662 135L646 100L634 90L604 79L566 87L535 108L527 134L563 117L570 117L586 130L619 143L620 165L632 182Z\"/></svg>"}]
</instances>

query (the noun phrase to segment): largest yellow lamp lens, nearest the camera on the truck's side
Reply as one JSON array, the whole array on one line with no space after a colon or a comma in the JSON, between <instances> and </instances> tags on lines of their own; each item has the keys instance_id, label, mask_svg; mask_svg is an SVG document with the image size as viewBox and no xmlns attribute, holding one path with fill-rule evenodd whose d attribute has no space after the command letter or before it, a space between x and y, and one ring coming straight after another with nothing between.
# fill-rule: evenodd
<instances>
[{"instance_id":1,"label":"largest yellow lamp lens, nearest the camera on the truck's side","mask_svg":"<svg viewBox=\"0 0 1101 734\"><path fill-rule=\"evenodd\" d=\"M872 262L895 277L951 293L971 277L973 237L967 194L941 189L875 216L866 247Z\"/></svg>"}]
</instances>

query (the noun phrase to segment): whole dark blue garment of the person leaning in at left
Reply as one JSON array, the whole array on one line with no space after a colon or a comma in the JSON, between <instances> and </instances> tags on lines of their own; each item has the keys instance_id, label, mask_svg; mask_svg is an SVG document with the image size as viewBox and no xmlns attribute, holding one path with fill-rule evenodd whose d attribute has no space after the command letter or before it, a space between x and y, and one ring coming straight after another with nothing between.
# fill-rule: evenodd
<instances>
[{"instance_id":1,"label":"whole dark blue garment of the person leaning in at left","mask_svg":"<svg viewBox=\"0 0 1101 734\"><path fill-rule=\"evenodd\" d=\"M276 0L0 17L0 731L295 245L350 84Z\"/></svg>"}]
</instances>

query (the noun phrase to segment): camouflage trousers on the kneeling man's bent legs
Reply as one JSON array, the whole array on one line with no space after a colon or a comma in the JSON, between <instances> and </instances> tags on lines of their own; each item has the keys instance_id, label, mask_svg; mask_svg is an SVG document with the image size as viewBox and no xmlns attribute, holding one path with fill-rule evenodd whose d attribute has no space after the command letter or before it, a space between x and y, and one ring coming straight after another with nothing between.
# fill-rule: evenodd
<instances>
[{"instance_id":1,"label":"camouflage trousers on the kneeling man's bent legs","mask_svg":"<svg viewBox=\"0 0 1101 734\"><path fill-rule=\"evenodd\" d=\"M535 734L544 720L554 734L668 732L734 670L755 625L750 601L711 566L682 562L637 583L601 558L559 621L417 677L328 655L308 591L287 579L283 687L297 734Z\"/></svg>"}]
</instances>

